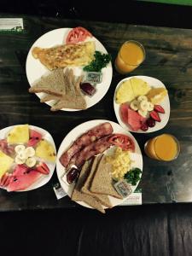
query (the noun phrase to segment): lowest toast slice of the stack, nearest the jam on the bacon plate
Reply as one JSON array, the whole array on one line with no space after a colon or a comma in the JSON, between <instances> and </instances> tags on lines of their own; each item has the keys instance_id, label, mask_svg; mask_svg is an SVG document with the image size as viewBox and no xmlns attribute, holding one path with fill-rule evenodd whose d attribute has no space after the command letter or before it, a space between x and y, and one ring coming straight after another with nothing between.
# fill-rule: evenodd
<instances>
[{"instance_id":1,"label":"lowest toast slice of the stack, nearest the jam on the bacon plate","mask_svg":"<svg viewBox=\"0 0 192 256\"><path fill-rule=\"evenodd\" d=\"M73 189L71 199L73 201L84 201L90 207L93 207L96 210L98 210L102 213L105 213L105 210L103 209L102 204L100 203L100 201L98 201L95 197L93 197L91 195L86 195L83 192L81 192L81 188L84 185L84 182L85 182L86 178L88 177L89 172L90 172L90 164L89 164L88 161L86 161L84 163L84 166L81 169L78 181L75 184L75 187Z\"/></svg>"}]
</instances>

